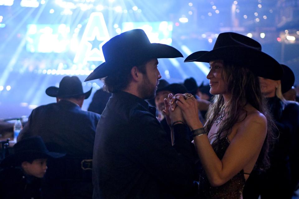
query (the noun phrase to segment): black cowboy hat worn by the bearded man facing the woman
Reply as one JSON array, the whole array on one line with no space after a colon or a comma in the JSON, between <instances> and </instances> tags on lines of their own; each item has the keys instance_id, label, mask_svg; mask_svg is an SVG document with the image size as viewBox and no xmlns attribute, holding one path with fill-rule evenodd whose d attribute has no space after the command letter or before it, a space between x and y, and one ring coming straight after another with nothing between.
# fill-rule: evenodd
<instances>
[{"instance_id":1,"label":"black cowboy hat worn by the bearded man facing the woman","mask_svg":"<svg viewBox=\"0 0 299 199\"><path fill-rule=\"evenodd\" d=\"M129 30L111 38L102 47L105 62L85 79L107 77L121 67L133 67L152 58L183 57L177 49L166 44L150 43L141 29Z\"/></svg>"}]
</instances>

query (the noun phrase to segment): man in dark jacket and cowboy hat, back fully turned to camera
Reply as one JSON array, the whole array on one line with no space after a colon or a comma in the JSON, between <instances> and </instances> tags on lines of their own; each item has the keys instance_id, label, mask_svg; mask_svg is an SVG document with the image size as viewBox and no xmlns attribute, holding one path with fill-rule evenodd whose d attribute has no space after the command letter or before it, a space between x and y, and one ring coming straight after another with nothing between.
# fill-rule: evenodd
<instances>
[{"instance_id":1,"label":"man in dark jacket and cowboy hat, back fully turned to camera","mask_svg":"<svg viewBox=\"0 0 299 199\"><path fill-rule=\"evenodd\" d=\"M18 136L18 141L40 136L49 150L67 154L61 160L48 162L51 167L45 175L45 198L92 197L90 161L100 115L81 109L90 93L91 89L83 92L77 76L63 77L59 88L46 89L46 94L56 97L57 103L34 109Z\"/></svg>"}]
</instances>

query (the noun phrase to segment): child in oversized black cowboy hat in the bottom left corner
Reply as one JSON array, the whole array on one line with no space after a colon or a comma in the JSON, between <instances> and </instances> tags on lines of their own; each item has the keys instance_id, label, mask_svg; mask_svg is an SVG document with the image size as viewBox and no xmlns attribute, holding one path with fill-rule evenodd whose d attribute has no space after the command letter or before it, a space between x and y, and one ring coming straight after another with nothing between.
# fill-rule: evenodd
<instances>
[{"instance_id":1,"label":"child in oversized black cowboy hat in the bottom left corner","mask_svg":"<svg viewBox=\"0 0 299 199\"><path fill-rule=\"evenodd\" d=\"M48 158L65 154L50 152L41 137L26 138L13 146L13 154L0 164L0 196L2 199L40 199L41 178L47 170Z\"/></svg>"}]
</instances>

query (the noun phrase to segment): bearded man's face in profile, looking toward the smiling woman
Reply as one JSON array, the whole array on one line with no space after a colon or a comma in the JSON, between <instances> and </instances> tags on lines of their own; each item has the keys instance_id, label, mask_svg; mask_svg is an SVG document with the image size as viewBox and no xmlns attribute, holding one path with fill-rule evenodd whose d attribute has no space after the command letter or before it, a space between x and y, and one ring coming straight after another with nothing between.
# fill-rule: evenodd
<instances>
[{"instance_id":1,"label":"bearded man's face in profile, looking toward the smiling woman","mask_svg":"<svg viewBox=\"0 0 299 199\"><path fill-rule=\"evenodd\" d=\"M156 95L159 79L161 78L157 68L158 63L157 59L151 59L145 64L146 73L143 74L143 82L138 88L142 99L151 99Z\"/></svg>"}]
</instances>

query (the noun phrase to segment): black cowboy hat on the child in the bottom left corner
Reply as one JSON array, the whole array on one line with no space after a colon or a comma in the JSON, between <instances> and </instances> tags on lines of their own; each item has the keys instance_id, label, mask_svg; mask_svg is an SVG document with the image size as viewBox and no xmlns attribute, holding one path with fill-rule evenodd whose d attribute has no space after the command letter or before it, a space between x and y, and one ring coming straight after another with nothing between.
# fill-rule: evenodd
<instances>
[{"instance_id":1,"label":"black cowboy hat on the child in the bottom left corner","mask_svg":"<svg viewBox=\"0 0 299 199\"><path fill-rule=\"evenodd\" d=\"M13 146L13 154L4 158L0 166L18 166L27 160L60 158L64 155L63 153L50 152L40 136L28 137L18 141Z\"/></svg>"}]
</instances>

